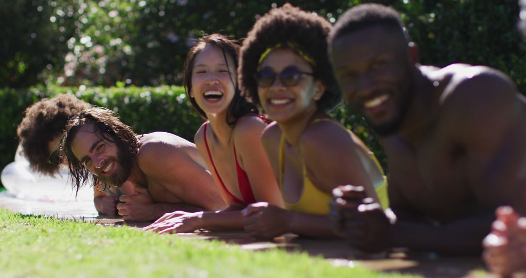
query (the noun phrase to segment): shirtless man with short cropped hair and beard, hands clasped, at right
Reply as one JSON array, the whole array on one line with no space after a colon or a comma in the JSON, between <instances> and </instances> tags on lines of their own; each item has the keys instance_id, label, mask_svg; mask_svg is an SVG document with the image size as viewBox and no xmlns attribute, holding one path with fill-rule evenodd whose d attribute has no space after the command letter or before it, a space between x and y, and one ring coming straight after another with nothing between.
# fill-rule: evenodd
<instances>
[{"instance_id":1,"label":"shirtless man with short cropped hair and beard, hands clasped, at right","mask_svg":"<svg viewBox=\"0 0 526 278\"><path fill-rule=\"evenodd\" d=\"M380 136L397 217L340 186L332 215L352 246L480 254L496 207L526 213L526 100L507 76L420 65L398 12L378 4L343 14L330 44L346 102Z\"/></svg>"}]
</instances>

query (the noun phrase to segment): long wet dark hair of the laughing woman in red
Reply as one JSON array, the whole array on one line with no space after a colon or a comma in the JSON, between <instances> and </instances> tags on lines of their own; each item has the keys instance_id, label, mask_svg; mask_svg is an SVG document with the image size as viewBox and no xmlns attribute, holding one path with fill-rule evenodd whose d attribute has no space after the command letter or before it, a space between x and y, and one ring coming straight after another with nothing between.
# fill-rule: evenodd
<instances>
[{"instance_id":1,"label":"long wet dark hair of the laughing woman in red","mask_svg":"<svg viewBox=\"0 0 526 278\"><path fill-rule=\"evenodd\" d=\"M190 92L192 90L192 71L194 68L195 58L197 57L197 54L199 54L201 51L203 51L203 49L205 49L205 47L209 45L216 46L219 47L219 49L221 49L227 66L227 55L230 55L234 60L234 69L237 69L239 61L239 45L237 45L234 40L228 39L227 37L221 34L211 34L199 38L197 43L192 48L190 48L190 51L188 51L183 70L183 86L185 87L186 96L190 100L190 103L204 118L206 118L205 112L199 107L199 105L197 105L195 99L193 97L190 97ZM240 117L247 114L258 114L259 111L254 104L247 102L246 98L241 96L239 92L239 87L236 85L235 80L232 79L231 73L230 79L232 80L232 84L234 84L235 93L234 98L232 98L232 101L230 102L230 105L228 107L227 123L230 126L232 126L236 124L237 120Z\"/></svg>"}]
</instances>

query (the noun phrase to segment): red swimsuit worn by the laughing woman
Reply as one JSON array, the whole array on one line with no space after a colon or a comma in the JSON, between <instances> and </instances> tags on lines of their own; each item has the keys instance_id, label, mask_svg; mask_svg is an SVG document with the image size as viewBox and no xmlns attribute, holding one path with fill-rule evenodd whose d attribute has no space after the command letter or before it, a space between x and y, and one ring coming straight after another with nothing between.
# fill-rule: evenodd
<instances>
[{"instance_id":1,"label":"red swimsuit worn by the laughing woman","mask_svg":"<svg viewBox=\"0 0 526 278\"><path fill-rule=\"evenodd\" d=\"M268 123L268 120L260 115L253 115L260 117L262 120ZM214 164L214 160L212 160L212 154L210 153L210 149L208 148L208 142L206 140L206 128L208 126L209 122L205 123L205 146L206 151L208 152L208 157L210 157L210 162L212 163L212 166L214 167L214 171L216 171L217 177L219 178L219 182L221 183L221 186L223 187L223 190L227 193L227 196L230 197L230 199L240 205L247 206L249 204L255 203L256 198L254 197L254 193L252 192L252 187L250 186L250 181L248 180L248 175L245 170L239 166L239 163L237 162L237 154L236 154L236 145L234 144L234 140L232 140L232 146L234 147L234 158L236 160L236 172L237 172L237 183L239 184L239 192L241 193L241 196L243 197L243 200L239 200L234 195L232 195L223 181L221 180L221 177L219 176L219 172L217 172L216 165Z\"/></svg>"}]
</instances>

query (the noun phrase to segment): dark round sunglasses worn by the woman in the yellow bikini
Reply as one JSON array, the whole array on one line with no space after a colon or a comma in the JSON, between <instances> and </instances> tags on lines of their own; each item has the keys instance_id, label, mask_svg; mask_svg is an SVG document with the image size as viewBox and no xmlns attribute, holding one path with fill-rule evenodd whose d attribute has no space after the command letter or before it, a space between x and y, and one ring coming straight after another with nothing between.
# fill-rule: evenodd
<instances>
[{"instance_id":1,"label":"dark round sunglasses worn by the woman in the yellow bikini","mask_svg":"<svg viewBox=\"0 0 526 278\"><path fill-rule=\"evenodd\" d=\"M298 85L301 77L304 75L314 76L313 73L300 71L296 66L288 66L279 74L272 71L269 67L264 67L255 74L254 78L256 78L256 82L261 88L272 86L276 81L276 76L279 76L279 81L285 87L291 87Z\"/></svg>"}]
</instances>

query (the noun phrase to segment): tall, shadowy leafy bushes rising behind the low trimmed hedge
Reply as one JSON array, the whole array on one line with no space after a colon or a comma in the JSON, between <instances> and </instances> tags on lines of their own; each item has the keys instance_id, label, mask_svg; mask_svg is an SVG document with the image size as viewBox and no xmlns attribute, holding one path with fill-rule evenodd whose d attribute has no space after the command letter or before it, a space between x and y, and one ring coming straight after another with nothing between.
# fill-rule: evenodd
<instances>
[{"instance_id":1,"label":"tall, shadowy leafy bushes rising behind the low trimmed hedge","mask_svg":"<svg viewBox=\"0 0 526 278\"><path fill-rule=\"evenodd\" d=\"M185 55L195 38L220 32L241 39L257 18L285 2L289 1L4 1L0 87L34 85L36 73L46 67L51 68L45 70L49 81L67 86L180 84ZM391 5L402 13L423 64L489 65L509 74L526 92L526 63L521 63L526 49L516 28L517 0L292 4L336 22L347 8L364 2Z\"/></svg>"}]
</instances>

